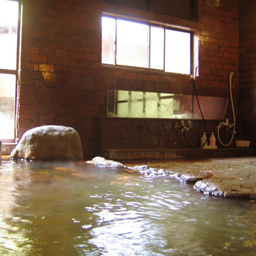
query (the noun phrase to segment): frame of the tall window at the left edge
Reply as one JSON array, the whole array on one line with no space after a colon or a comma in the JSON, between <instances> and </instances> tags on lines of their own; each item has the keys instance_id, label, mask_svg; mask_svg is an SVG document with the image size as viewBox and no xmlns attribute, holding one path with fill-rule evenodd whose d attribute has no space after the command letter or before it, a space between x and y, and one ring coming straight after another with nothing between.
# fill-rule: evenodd
<instances>
[{"instance_id":1,"label":"frame of the tall window at the left edge","mask_svg":"<svg viewBox=\"0 0 256 256\"><path fill-rule=\"evenodd\" d=\"M4 69L0 68L0 74L4 75L15 75L16 85L14 93L14 138L1 139L3 143L15 143L16 142L16 110L17 110L17 81L18 81L18 68L19 68L19 53L20 53L20 42L21 42L21 0L5 0L5 1L15 1L18 3L18 21L17 21L17 46L16 46L16 68L15 69Z\"/></svg>"}]
</instances>

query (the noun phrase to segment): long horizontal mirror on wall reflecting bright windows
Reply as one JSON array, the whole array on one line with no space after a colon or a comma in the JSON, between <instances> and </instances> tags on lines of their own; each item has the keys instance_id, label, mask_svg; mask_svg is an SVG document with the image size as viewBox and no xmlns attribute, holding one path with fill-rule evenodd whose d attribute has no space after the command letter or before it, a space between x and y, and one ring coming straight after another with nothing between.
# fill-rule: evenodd
<instances>
[{"instance_id":1,"label":"long horizontal mirror on wall reflecting bright windows","mask_svg":"<svg viewBox=\"0 0 256 256\"><path fill-rule=\"evenodd\" d=\"M224 119L228 99L198 96L203 117ZM107 91L107 117L202 119L195 95L128 90Z\"/></svg>"}]
</instances>

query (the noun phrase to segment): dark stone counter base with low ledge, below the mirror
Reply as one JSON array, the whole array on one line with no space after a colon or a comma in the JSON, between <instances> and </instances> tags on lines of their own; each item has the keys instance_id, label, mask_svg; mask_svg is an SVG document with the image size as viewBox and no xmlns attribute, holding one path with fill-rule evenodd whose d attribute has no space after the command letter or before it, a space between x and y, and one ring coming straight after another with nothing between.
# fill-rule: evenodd
<instances>
[{"instance_id":1,"label":"dark stone counter base with low ledge, below the mirror","mask_svg":"<svg viewBox=\"0 0 256 256\"><path fill-rule=\"evenodd\" d=\"M252 156L252 148L237 147L235 139L228 147L218 142L217 149L200 148L204 132L202 120L193 120L191 130L184 134L175 119L98 119L100 152L106 159L199 159L209 157ZM217 134L217 121L207 121L208 138ZM237 134L241 134L237 125ZM188 144L187 144L188 142Z\"/></svg>"}]
</instances>

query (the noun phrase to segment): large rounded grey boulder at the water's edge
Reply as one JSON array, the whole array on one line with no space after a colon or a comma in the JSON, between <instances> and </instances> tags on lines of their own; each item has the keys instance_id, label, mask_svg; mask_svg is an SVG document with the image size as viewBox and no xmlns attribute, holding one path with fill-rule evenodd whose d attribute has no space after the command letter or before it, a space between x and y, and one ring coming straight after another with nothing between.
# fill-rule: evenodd
<instances>
[{"instance_id":1,"label":"large rounded grey boulder at the water's edge","mask_svg":"<svg viewBox=\"0 0 256 256\"><path fill-rule=\"evenodd\" d=\"M14 159L82 159L82 144L72 127L44 125L28 130L11 152Z\"/></svg>"}]
</instances>

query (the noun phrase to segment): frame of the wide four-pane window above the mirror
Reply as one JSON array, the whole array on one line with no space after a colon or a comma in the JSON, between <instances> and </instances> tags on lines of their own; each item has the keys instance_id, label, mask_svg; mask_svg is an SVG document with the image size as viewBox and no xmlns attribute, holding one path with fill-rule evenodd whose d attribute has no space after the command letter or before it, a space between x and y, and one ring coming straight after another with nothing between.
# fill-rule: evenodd
<instances>
[{"instance_id":1,"label":"frame of the wide four-pane window above the mirror","mask_svg":"<svg viewBox=\"0 0 256 256\"><path fill-rule=\"evenodd\" d=\"M155 71L159 71L159 72L163 72L163 73L176 73L176 72L172 72L172 71L166 71L165 70L165 60L166 60L166 30L171 30L171 31L179 31L179 32L184 32L184 33L189 33L190 35L190 73L176 73L176 74L180 74L180 75L193 75L193 70L195 68L195 38L196 38L196 33L195 31L192 31L190 28L181 28L179 26L171 26L171 25L166 25L163 23L153 23L153 22L147 22L144 20L140 20L140 19L134 19L134 18L127 18L124 16L117 16L114 14L106 14L103 13L102 14L102 18L106 17L106 18L114 18L115 20L115 41L114 41L114 64L109 64L109 63L102 63L102 59L101 59L101 63L102 66L107 66L107 67L113 67L113 68L118 68L118 67L122 67L122 68L130 68L130 69L134 69L134 70L155 70ZM131 66L131 65L120 65L117 64L117 20L122 20L122 21L130 21L130 22L134 22L134 23L142 23L146 26L149 26L149 55L148 55L148 63L149 63L149 67L144 68L144 67L139 67L139 66ZM157 68L151 68L151 27L159 27L159 28L163 28L164 29L164 68L163 69L157 69ZM102 57L102 54L101 54Z\"/></svg>"}]
</instances>

